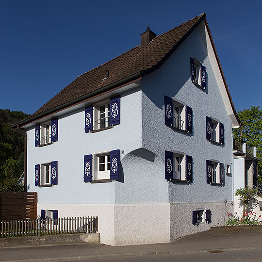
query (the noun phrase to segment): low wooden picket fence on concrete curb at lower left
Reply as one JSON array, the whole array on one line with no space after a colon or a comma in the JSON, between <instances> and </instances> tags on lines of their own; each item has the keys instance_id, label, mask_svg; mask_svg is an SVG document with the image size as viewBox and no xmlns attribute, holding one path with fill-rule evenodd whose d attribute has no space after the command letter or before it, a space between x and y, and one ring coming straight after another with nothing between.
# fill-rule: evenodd
<instances>
[{"instance_id":1,"label":"low wooden picket fence on concrete curb at lower left","mask_svg":"<svg viewBox=\"0 0 262 262\"><path fill-rule=\"evenodd\" d=\"M97 231L97 216L0 221L0 237L96 233Z\"/></svg>"}]
</instances>

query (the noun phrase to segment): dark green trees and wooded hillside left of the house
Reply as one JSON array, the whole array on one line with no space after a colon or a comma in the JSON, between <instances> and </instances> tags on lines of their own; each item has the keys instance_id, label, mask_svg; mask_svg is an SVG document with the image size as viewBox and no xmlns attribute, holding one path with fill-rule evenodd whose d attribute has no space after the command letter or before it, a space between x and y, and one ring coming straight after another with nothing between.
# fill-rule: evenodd
<instances>
[{"instance_id":1,"label":"dark green trees and wooded hillside left of the house","mask_svg":"<svg viewBox=\"0 0 262 262\"><path fill-rule=\"evenodd\" d=\"M0 109L0 191L23 191L17 180L24 170L24 135L10 126L28 116Z\"/></svg>"}]
</instances>

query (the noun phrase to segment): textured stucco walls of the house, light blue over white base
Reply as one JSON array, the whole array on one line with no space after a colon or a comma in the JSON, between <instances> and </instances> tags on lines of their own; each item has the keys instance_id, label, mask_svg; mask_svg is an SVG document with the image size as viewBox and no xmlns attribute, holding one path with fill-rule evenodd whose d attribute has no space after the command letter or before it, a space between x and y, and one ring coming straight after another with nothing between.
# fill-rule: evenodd
<instances>
[{"instance_id":1,"label":"textured stucco walls of the house, light blue over white base","mask_svg":"<svg viewBox=\"0 0 262 262\"><path fill-rule=\"evenodd\" d=\"M141 88L121 94L121 123L112 129L84 132L84 107L59 117L58 142L34 147L28 130L28 183L38 192L38 212L58 210L59 217L98 216L101 242L135 245L169 242L223 224L232 212L232 177L225 185L206 183L206 160L232 161L231 121L227 114L205 39L197 28L164 65L143 77ZM207 88L190 80L190 57L207 70ZM179 99L193 110L193 132L175 131L164 124L164 96ZM225 126L225 145L206 140L206 116ZM83 182L83 156L120 149L121 179ZM164 150L193 157L193 182L164 179ZM122 153L122 151L124 151ZM58 185L34 186L34 165L58 161ZM192 211L210 209L212 222L192 224Z\"/></svg>"}]
</instances>

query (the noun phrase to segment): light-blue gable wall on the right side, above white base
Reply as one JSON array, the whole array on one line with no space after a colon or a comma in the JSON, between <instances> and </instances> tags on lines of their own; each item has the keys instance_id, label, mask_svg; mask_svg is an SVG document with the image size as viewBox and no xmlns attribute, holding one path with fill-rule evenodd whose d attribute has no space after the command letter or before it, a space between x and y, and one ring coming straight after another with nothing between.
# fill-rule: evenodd
<instances>
[{"instance_id":1,"label":"light-blue gable wall on the right side, above white base","mask_svg":"<svg viewBox=\"0 0 262 262\"><path fill-rule=\"evenodd\" d=\"M162 159L163 177L165 150L183 152L193 159L192 182L166 181L169 183L170 202L202 202L207 201L207 196L209 201L223 201L232 196L231 177L226 177L223 185L207 183L207 160L225 165L231 164L232 159L231 120L205 41L205 35L197 28L159 70L142 79L143 147ZM205 89L191 81L190 58L195 58L206 67ZM192 109L192 132L165 125L164 96L174 99L174 104L178 102L184 108L189 106ZM224 125L223 144L220 144L219 138L217 143L207 140L206 116L212 117L218 125L219 122Z\"/></svg>"}]
</instances>

